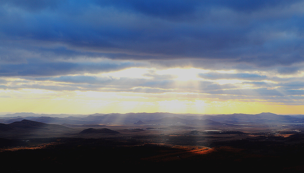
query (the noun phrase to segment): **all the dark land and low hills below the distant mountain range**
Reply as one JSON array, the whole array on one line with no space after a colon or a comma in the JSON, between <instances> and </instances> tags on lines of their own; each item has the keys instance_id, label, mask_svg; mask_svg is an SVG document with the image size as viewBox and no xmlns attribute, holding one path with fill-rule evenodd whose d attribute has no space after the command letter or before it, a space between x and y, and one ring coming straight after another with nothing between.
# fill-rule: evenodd
<instances>
[{"instance_id":1,"label":"all the dark land and low hills below the distant mountain range","mask_svg":"<svg viewBox=\"0 0 304 173\"><path fill-rule=\"evenodd\" d=\"M0 123L1 171L304 171L300 123L197 122Z\"/></svg>"}]
</instances>

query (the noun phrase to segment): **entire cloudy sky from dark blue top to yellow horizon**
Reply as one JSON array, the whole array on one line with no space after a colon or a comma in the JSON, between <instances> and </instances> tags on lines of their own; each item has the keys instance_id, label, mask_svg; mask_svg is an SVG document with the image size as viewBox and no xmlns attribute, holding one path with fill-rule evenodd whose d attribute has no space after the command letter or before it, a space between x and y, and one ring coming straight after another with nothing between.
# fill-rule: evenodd
<instances>
[{"instance_id":1,"label":"entire cloudy sky from dark blue top to yellow horizon","mask_svg":"<svg viewBox=\"0 0 304 173\"><path fill-rule=\"evenodd\" d=\"M0 112L304 114L304 1L0 0Z\"/></svg>"}]
</instances>

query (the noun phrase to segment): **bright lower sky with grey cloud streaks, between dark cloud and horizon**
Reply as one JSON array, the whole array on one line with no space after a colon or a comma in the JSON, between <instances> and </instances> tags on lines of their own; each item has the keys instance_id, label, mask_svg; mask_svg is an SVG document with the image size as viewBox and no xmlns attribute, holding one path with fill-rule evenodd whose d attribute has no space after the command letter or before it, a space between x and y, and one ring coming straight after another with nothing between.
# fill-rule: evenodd
<instances>
[{"instance_id":1,"label":"bright lower sky with grey cloud streaks, between dark cloud and horizon","mask_svg":"<svg viewBox=\"0 0 304 173\"><path fill-rule=\"evenodd\" d=\"M234 74L237 71L134 67L99 74L68 74L64 77L70 80L66 81L57 80L60 76L46 80L2 77L1 80L7 81L2 87L9 87L0 89L0 108L3 112L71 114L118 111L217 114L236 113L236 110L282 114L304 109L300 99L292 100L294 105L284 104L295 96L281 100L280 104L274 103L272 96L262 99L263 88L286 95L277 77L261 78L260 81L259 78L255 78L256 81L250 78L217 79L216 76L205 79L199 75L203 73Z\"/></svg>"}]
</instances>

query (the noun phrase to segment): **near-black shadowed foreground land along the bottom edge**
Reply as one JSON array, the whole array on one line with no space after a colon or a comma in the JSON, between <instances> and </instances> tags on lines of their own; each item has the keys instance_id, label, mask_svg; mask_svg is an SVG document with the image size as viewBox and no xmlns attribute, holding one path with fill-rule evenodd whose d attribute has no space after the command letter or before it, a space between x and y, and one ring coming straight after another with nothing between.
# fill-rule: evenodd
<instances>
[{"instance_id":1,"label":"near-black shadowed foreground land along the bottom edge","mask_svg":"<svg viewBox=\"0 0 304 173\"><path fill-rule=\"evenodd\" d=\"M301 136L303 138L303 136ZM166 138L166 136L164 136ZM263 138L263 137L260 137ZM191 136L178 140L197 140ZM155 137L155 140L164 140ZM166 139L165 139L166 140ZM266 140L252 138L212 144L212 149L195 145L147 144L141 140L117 138L44 138L45 144L10 148L0 152L2 170L18 172L126 170L303 170L303 144L285 144L289 138Z\"/></svg>"}]
</instances>

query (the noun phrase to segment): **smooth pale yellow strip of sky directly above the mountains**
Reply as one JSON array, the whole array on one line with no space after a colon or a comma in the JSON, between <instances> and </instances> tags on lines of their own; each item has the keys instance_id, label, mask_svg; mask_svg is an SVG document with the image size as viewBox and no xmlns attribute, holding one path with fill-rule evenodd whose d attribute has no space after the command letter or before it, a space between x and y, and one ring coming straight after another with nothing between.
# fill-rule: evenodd
<instances>
[{"instance_id":1,"label":"smooth pale yellow strip of sky directly above the mountains","mask_svg":"<svg viewBox=\"0 0 304 173\"><path fill-rule=\"evenodd\" d=\"M49 91L47 91L49 92ZM41 94L41 91L38 92ZM98 93L98 94L97 94ZM164 99L138 96L138 93L77 92L74 94L52 97L51 95L30 96L23 93L23 98L2 98L2 112L34 112L48 114L93 114L93 113L129 113L129 112L170 112L193 114L258 114L272 112L276 114L300 114L303 105L279 105L263 102L204 101L202 99ZM128 95L126 95L128 94ZM137 95L137 96L136 96ZM28 98L26 98L28 96ZM114 99L116 98L116 99Z\"/></svg>"}]
</instances>

